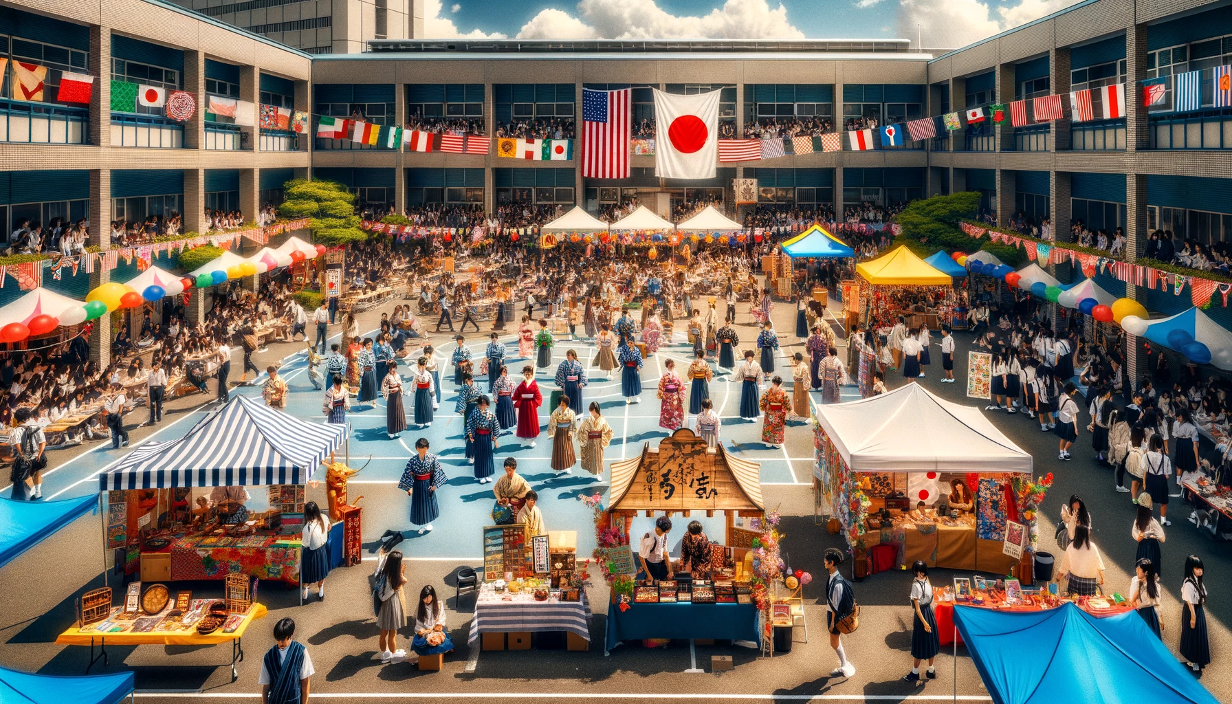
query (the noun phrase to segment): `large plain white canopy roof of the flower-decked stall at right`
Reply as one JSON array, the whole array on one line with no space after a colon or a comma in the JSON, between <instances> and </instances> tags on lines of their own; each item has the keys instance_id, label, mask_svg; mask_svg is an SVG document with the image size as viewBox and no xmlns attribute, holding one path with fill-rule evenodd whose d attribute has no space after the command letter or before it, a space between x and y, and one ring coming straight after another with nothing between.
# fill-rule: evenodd
<instances>
[{"instance_id":1,"label":"large plain white canopy roof of the flower-decked stall at right","mask_svg":"<svg viewBox=\"0 0 1232 704\"><path fill-rule=\"evenodd\" d=\"M1030 472L1031 455L972 406L919 383L817 407L817 420L854 472Z\"/></svg>"}]
</instances>

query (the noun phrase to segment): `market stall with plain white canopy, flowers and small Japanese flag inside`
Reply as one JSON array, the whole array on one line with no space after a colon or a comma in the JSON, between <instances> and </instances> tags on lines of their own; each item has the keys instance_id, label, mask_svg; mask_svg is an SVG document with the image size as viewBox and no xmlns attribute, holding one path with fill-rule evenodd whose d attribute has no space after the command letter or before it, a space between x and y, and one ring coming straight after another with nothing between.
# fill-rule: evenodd
<instances>
[{"instance_id":1,"label":"market stall with plain white canopy, flowers and small Japanese flag inside","mask_svg":"<svg viewBox=\"0 0 1232 704\"><path fill-rule=\"evenodd\" d=\"M908 383L816 418L819 512L839 522L856 576L915 560L1002 575L1030 563L1051 480L1032 483L1031 455L977 408Z\"/></svg>"}]
</instances>

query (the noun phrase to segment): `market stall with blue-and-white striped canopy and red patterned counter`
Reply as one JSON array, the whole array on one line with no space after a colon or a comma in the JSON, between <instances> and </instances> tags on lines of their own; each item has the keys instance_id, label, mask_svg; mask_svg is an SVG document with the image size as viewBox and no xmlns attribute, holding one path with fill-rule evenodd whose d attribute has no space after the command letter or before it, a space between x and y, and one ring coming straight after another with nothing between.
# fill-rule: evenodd
<instances>
[{"instance_id":1,"label":"market stall with blue-and-white striped canopy and red patterned counter","mask_svg":"<svg viewBox=\"0 0 1232 704\"><path fill-rule=\"evenodd\" d=\"M106 544L142 579L299 582L304 483L346 436L234 396L184 438L100 475Z\"/></svg>"}]
</instances>

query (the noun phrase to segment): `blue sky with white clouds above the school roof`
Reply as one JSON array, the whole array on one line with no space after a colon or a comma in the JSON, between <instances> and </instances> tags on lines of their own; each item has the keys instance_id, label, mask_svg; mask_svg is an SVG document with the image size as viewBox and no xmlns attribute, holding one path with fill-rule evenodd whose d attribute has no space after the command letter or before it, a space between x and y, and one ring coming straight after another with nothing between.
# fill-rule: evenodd
<instances>
[{"instance_id":1,"label":"blue sky with white clouds above the school roof","mask_svg":"<svg viewBox=\"0 0 1232 704\"><path fill-rule=\"evenodd\" d=\"M428 37L860 38L954 48L1077 0L426 0Z\"/></svg>"}]
</instances>

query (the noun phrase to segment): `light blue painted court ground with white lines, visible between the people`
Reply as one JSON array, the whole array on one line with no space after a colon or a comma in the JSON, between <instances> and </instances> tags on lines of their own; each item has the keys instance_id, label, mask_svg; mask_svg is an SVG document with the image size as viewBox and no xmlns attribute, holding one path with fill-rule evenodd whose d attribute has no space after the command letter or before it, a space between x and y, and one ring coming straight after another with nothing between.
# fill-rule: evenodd
<instances>
[{"instance_id":1,"label":"light blue painted court ground with white lines, visible between the people","mask_svg":"<svg viewBox=\"0 0 1232 704\"><path fill-rule=\"evenodd\" d=\"M455 343L447 339L446 334L435 335L440 355L448 359L453 351ZM795 338L792 338L795 339ZM482 340L482 342L480 342ZM468 340L472 354L478 358L487 345L485 335L476 335ZM517 346L513 335L503 338L506 349L511 355L516 355ZM790 356L796 351L803 351L802 344L786 345L779 350L775 360L775 372L785 377L785 388L791 390L791 375L787 369ZM551 391L556 388L553 376L556 365L559 364L567 350L575 350L580 360L586 365L588 375L598 372L590 366L595 354L595 348L585 340L558 339L553 348L553 366L537 370L536 379L543 392L545 404L540 408L540 425L546 427L551 409L547 408L547 399ZM620 377L606 381L601 376L591 377L590 385L583 395L584 402L599 401L602 413L611 424L615 434L611 445L607 448L607 465L612 461L636 456L642 445L649 443L657 446L662 438L670 432L659 427L659 401L655 398L658 379L663 374L663 361L673 359L676 362L676 371L683 372L691 359L691 345L684 339L684 333L678 334L670 344L650 355L642 367L642 401L636 404L627 404L620 392ZM411 360L416 355L411 354ZM513 376L519 376L522 366L533 365L532 360L508 358ZM713 362L712 362L713 364ZM477 365L478 366L478 365ZM402 367L404 375L409 374L409 367ZM473 466L467 464L462 438L462 418L453 413L457 386L453 383L453 369L445 365L441 369L442 397L441 406L435 415L431 427L418 429L413 424L402 433L399 438L391 440L386 433L386 408L384 401L378 399L375 406L360 406L352 398L352 411L347 413L350 425L349 445L340 456L349 452L350 464L354 467L367 466L350 482L350 499L362 496L359 504L363 508L363 536L366 545L373 547L377 539L387 530L403 530L407 541L403 542L403 551L415 560L429 561L473 561L478 562L479 530L482 525L492 523L490 512L493 507L492 485L480 485L474 478ZM322 391L312 387L308 380L307 365L302 354L296 354L286 360L282 375L291 386L286 412L306 420L324 423L325 418L320 409ZM487 391L487 376L482 375L477 381L483 391ZM761 422L745 422L739 418L739 388L738 381L731 381L728 375L716 376L711 382L710 393L716 409L722 417L722 438L728 452L759 462L761 465L761 481L764 485L798 485L802 488L811 485L813 462L813 434L812 427L807 422L788 423L784 448L772 449L761 443ZM238 393L259 395L259 387L244 387L233 391ZM855 387L843 390L844 399L856 397ZM205 397L202 397L205 398ZM813 396L814 403L818 396ZM407 412L413 415L413 396L404 398ZM155 441L166 441L181 436L192 424L203 418L217 404L206 406L193 413L176 417L175 422L164 420L163 427L153 436ZM131 419L139 420L144 415L143 408L129 415ZM694 417L686 418L687 427L692 428ZM519 472L531 483L540 494L540 508L543 510L545 522L549 530L577 530L578 552L580 556L589 556L594 549L593 513L579 501L583 494L600 493L607 496L606 471L602 476L593 476L575 465L573 473L564 475L549 467L552 455L552 439L543 432L537 441L537 446L531 448L530 440L524 440L513 435L513 429L499 438L496 450L496 476L500 475L500 462L504 457L511 456L517 460ZM398 478L402 476L407 457L413 454L415 440L426 438L431 443L431 451L442 462L450 481L437 491L437 501L441 507L440 518L434 522L434 530L424 535L418 534L419 526L413 526L408 519L410 498L398 491ZM97 472L115 464L120 457L129 451L111 450L110 443L102 443L84 450L83 454L63 466L49 472L44 477L44 496L59 497L83 496L97 491ZM370 461L371 457L371 461ZM259 491L259 489L256 489ZM315 498L324 504L324 488L309 489L309 498ZM694 517L696 518L696 515ZM710 535L722 535L722 518L716 517L706 520ZM639 525L649 519L639 519L634 523L633 531L643 530ZM713 525L710 523L713 522ZM683 529L683 526L680 526ZM683 530L674 531L678 535ZM679 538L678 538L679 539Z\"/></svg>"}]
</instances>

